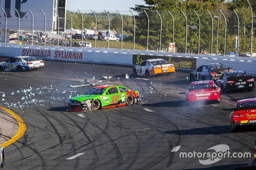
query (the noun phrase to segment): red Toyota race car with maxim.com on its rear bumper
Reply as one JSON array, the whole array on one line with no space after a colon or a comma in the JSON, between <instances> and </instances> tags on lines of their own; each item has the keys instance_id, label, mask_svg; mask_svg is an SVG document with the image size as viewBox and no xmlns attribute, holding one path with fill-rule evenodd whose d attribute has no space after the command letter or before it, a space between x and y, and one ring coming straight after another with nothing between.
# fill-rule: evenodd
<instances>
[{"instance_id":1,"label":"red Toyota race car with maxim.com on its rear bumper","mask_svg":"<svg viewBox=\"0 0 256 170\"><path fill-rule=\"evenodd\" d=\"M212 103L220 103L220 87L213 80L192 82L186 92L187 104L191 101L207 100Z\"/></svg>"}]
</instances>

